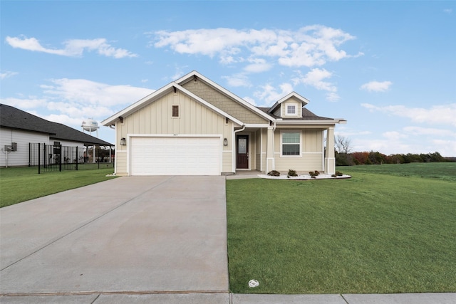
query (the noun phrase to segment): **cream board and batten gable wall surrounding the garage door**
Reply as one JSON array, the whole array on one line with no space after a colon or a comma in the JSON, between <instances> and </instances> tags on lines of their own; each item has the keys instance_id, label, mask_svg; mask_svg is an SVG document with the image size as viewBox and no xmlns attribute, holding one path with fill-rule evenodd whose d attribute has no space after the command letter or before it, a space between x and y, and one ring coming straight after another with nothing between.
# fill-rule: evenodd
<instances>
[{"instance_id":1,"label":"cream board and batten gable wall surrounding the garage door","mask_svg":"<svg viewBox=\"0 0 456 304\"><path fill-rule=\"evenodd\" d=\"M179 105L179 117L172 117L172 106ZM168 93L154 102L134 112L128 117L123 117L123 123L115 125L117 143L120 138L128 135L222 135L222 140L227 138L228 146L222 150L222 170L232 172L232 129L233 122L226 122L217 112L206 108L193 98L177 91ZM116 151L126 152L127 146L116 147ZM116 173L128 174L127 156L117 156Z\"/></svg>"}]
</instances>

